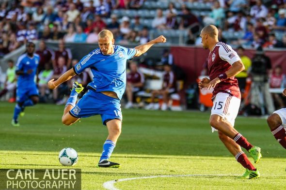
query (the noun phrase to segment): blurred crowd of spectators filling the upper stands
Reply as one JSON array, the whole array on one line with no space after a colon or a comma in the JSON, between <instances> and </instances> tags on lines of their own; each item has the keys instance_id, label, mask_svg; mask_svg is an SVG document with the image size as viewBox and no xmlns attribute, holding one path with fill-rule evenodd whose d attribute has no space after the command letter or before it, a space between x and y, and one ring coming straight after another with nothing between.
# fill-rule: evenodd
<instances>
[{"instance_id":1,"label":"blurred crowd of spectators filling the upper stands","mask_svg":"<svg viewBox=\"0 0 286 190\"><path fill-rule=\"evenodd\" d=\"M201 45L198 34L207 24L219 27L228 44L286 47L285 15L284 0L1 0L0 56L34 39L96 43L102 29L123 44L177 30L173 38L183 35L184 43Z\"/></svg>"}]
</instances>

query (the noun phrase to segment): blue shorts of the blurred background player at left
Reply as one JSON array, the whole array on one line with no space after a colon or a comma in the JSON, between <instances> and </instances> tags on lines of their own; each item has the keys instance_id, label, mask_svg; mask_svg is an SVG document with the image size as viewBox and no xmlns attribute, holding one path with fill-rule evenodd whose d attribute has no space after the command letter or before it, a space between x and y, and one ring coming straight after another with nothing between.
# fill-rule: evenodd
<instances>
[{"instance_id":1,"label":"blue shorts of the blurred background player at left","mask_svg":"<svg viewBox=\"0 0 286 190\"><path fill-rule=\"evenodd\" d=\"M39 96L39 91L36 84L30 84L28 87L17 87L16 102L25 102L31 96Z\"/></svg>"}]
</instances>

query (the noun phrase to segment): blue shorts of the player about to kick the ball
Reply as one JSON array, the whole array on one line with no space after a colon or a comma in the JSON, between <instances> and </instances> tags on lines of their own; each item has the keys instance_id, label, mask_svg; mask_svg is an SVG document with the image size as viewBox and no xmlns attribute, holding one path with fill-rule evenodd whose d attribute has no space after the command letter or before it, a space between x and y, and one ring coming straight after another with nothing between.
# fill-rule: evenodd
<instances>
[{"instance_id":1,"label":"blue shorts of the player about to kick the ball","mask_svg":"<svg viewBox=\"0 0 286 190\"><path fill-rule=\"evenodd\" d=\"M100 114L103 125L106 125L106 121L110 119L120 119L122 121L120 100L91 89L82 96L69 113L77 118Z\"/></svg>"}]
</instances>

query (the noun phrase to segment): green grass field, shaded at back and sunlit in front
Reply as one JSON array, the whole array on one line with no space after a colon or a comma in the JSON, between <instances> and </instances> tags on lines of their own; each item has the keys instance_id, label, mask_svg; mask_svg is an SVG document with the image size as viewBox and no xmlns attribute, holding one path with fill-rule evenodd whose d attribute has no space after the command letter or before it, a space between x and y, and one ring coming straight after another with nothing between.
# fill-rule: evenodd
<instances>
[{"instance_id":1,"label":"green grass field, shaded at back and sunlit in front","mask_svg":"<svg viewBox=\"0 0 286 190\"><path fill-rule=\"evenodd\" d=\"M38 104L26 109L16 128L10 125L14 106L0 102L2 169L70 168L59 163L58 153L72 147L79 154L73 168L81 169L82 190L104 190L105 182L117 179L113 185L120 190L286 189L286 150L271 135L265 119L236 120L236 129L263 154L255 164L261 178L241 180L237 176L244 169L211 133L209 113L123 110L122 134L110 159L121 168L97 168L107 137L100 116L67 127L61 124L64 106ZM145 176L160 177L140 178ZM134 177L138 179L120 180Z\"/></svg>"}]
</instances>

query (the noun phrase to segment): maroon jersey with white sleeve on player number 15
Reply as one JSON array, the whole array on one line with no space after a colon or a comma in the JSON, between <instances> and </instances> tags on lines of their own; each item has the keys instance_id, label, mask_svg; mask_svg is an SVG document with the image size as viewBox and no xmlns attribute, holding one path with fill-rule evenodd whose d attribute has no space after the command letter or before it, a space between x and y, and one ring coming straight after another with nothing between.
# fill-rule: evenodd
<instances>
[{"instance_id":1,"label":"maroon jersey with white sleeve on player number 15","mask_svg":"<svg viewBox=\"0 0 286 190\"><path fill-rule=\"evenodd\" d=\"M213 50L209 52L207 59L208 75L210 80L215 79L218 75L228 71L232 64L238 60L241 60L231 46L218 42ZM238 80L233 76L218 83L213 93L213 97L219 92L231 94L237 98L240 97L240 91L238 88Z\"/></svg>"}]
</instances>

